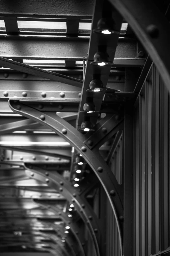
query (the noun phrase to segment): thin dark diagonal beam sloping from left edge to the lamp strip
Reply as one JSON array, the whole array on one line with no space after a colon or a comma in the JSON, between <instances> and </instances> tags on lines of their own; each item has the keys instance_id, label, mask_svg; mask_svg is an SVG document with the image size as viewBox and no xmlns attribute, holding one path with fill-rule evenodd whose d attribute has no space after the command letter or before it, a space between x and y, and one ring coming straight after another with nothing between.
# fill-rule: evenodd
<instances>
[{"instance_id":1,"label":"thin dark diagonal beam sloping from left edge to the lamp strip","mask_svg":"<svg viewBox=\"0 0 170 256\"><path fill-rule=\"evenodd\" d=\"M83 81L80 79L76 79L76 78L72 78L72 77L69 77L66 75L57 74L57 73L54 73L51 71L35 68L32 66L17 62L17 61L13 61L13 60L9 60L9 59L0 57L0 65L3 67L7 67L10 69L20 71L20 72L44 77L44 78L47 78L47 79L50 79L53 81L57 81L57 82L61 82L64 84L73 85L73 86L82 88Z\"/></svg>"}]
</instances>

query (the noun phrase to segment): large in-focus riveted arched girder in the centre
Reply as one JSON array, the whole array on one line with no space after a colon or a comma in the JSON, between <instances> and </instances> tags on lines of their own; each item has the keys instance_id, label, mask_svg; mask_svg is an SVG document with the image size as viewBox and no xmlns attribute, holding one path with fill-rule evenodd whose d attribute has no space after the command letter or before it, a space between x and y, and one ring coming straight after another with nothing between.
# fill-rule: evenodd
<instances>
[{"instance_id":1,"label":"large in-focus riveted arched girder in the centre","mask_svg":"<svg viewBox=\"0 0 170 256\"><path fill-rule=\"evenodd\" d=\"M67 121L61 119L58 116L54 116L45 112L40 112L36 108L32 108L26 104L28 102L22 101L15 102L13 100L9 100L10 108L20 115L31 118L40 122L41 124L49 127L58 135L64 137L70 144L75 147L75 149L81 153L86 160L86 162L90 165L90 167L95 172L98 177L100 183L102 184L106 195L111 203L116 224L119 233L119 241L120 241L120 251L121 255L123 254L123 222L119 221L119 217L123 216L123 202L121 200L122 194L122 186L118 184L113 172L110 170L104 159L102 159L99 151L95 148L90 150L84 143L86 137L82 135L79 131L77 131L73 126L71 126ZM111 124L112 125L112 124ZM113 127L114 128L114 127ZM100 136L100 133L99 133ZM112 193L114 191L114 193ZM77 201L77 204L78 201ZM82 209L83 210L83 209ZM88 220L89 222L89 220ZM91 225L88 225L89 227ZM93 231L94 232L94 231ZM99 249L97 245L96 236L93 235L93 240L95 242L95 246L97 249L97 254L99 255Z\"/></svg>"}]
</instances>

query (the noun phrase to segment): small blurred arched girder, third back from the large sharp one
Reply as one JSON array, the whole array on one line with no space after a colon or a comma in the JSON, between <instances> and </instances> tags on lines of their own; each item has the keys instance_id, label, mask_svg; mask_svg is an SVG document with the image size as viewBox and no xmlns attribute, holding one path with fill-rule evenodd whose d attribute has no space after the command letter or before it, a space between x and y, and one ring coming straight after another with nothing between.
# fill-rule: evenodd
<instances>
[{"instance_id":1,"label":"small blurred arched girder, third back from the large sharp one","mask_svg":"<svg viewBox=\"0 0 170 256\"><path fill-rule=\"evenodd\" d=\"M76 222L70 222L70 217L68 217L67 213L64 213L63 211L61 211L56 205L49 205L47 203L44 203L43 200L39 200L39 199L34 199L33 200L36 204L45 207L46 209L48 209L49 211L57 214L58 216L61 217L61 219L70 226L70 230L71 232L74 234L75 238L77 239L77 242L79 244L80 250L82 252L82 255L86 255L86 251L85 251L85 247L82 246L82 244L84 243L84 239L81 235L81 229L79 228L79 226L77 225Z\"/></svg>"}]
</instances>

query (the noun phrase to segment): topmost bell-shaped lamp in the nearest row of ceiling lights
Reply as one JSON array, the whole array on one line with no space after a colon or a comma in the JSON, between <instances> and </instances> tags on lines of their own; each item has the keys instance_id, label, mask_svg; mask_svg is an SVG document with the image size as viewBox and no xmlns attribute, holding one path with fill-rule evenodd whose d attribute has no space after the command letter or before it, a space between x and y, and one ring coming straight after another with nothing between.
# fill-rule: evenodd
<instances>
[{"instance_id":1,"label":"topmost bell-shaped lamp in the nearest row of ceiling lights","mask_svg":"<svg viewBox=\"0 0 170 256\"><path fill-rule=\"evenodd\" d=\"M115 29L115 22L114 22L114 19L112 18L101 18L98 21L97 28L93 29L93 32L101 33L104 35L120 34L120 31Z\"/></svg>"}]
</instances>

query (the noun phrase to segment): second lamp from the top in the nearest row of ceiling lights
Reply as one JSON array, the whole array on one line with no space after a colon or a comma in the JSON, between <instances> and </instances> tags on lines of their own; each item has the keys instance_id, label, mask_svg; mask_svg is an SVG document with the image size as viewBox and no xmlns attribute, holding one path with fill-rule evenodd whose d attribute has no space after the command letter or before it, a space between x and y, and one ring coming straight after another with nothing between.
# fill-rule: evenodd
<instances>
[{"instance_id":1,"label":"second lamp from the top in the nearest row of ceiling lights","mask_svg":"<svg viewBox=\"0 0 170 256\"><path fill-rule=\"evenodd\" d=\"M108 66L112 65L113 62L109 61L109 55L106 52L106 45L98 45L98 52L94 55L94 61L90 62L91 65L97 66Z\"/></svg>"}]
</instances>

